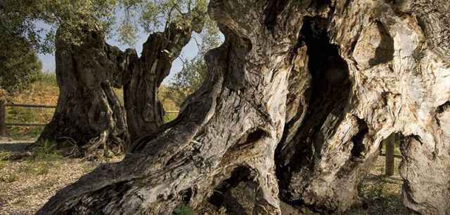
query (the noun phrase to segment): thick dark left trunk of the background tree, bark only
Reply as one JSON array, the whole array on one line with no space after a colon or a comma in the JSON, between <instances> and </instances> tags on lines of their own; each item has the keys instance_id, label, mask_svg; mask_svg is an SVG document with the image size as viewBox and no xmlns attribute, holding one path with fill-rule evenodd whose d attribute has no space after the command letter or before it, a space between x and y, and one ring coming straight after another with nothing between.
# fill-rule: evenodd
<instances>
[{"instance_id":1,"label":"thick dark left trunk of the background tree, bark only","mask_svg":"<svg viewBox=\"0 0 450 215\"><path fill-rule=\"evenodd\" d=\"M129 143L124 109L113 91L122 87L127 55L106 44L101 29L85 33L79 46L56 41L60 95L39 139L63 141L87 158L98 158L122 153Z\"/></svg>"}]
</instances>

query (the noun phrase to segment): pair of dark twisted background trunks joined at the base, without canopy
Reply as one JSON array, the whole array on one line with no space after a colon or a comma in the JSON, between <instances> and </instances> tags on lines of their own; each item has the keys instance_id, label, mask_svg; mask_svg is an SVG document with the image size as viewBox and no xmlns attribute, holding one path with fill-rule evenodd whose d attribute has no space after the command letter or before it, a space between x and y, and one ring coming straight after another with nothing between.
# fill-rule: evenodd
<instances>
[{"instance_id":1,"label":"pair of dark twisted background trunks joined at the base, without canopy","mask_svg":"<svg viewBox=\"0 0 450 215\"><path fill-rule=\"evenodd\" d=\"M190 41L192 32L201 31L206 4L205 1L195 4L125 1L124 8L131 10L136 4L145 4L139 10L161 7L156 11L141 11L145 21L165 20L164 31L150 34L141 57L135 50L122 52L105 43L105 29L95 21L89 20L88 25L81 27L77 22L73 24L75 27L65 22L59 26L56 34L58 107L39 139L65 140L81 155L98 158L122 153L130 139L134 141L149 134L162 124L164 109L158 99L158 87L169 74L172 61ZM120 29L130 28L129 21L124 20L122 24ZM77 31L80 35L77 40L67 39L67 35ZM122 38L127 36L129 32ZM113 88L124 88L124 107Z\"/></svg>"}]
</instances>

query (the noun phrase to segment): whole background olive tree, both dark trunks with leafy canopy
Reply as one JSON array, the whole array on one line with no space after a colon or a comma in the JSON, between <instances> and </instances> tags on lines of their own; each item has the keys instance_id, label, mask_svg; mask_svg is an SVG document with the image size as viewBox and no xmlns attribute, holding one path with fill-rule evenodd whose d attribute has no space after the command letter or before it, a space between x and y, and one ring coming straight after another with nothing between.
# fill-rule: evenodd
<instances>
[{"instance_id":1,"label":"whole background olive tree, both dark trunks with leafy canopy","mask_svg":"<svg viewBox=\"0 0 450 215\"><path fill-rule=\"evenodd\" d=\"M23 36L23 47L37 53L56 50L58 107L39 140L64 137L70 146L94 157L120 153L130 141L162 125L158 88L172 62L193 32L198 33L199 46L207 47L200 45L210 40L202 39L207 34L200 34L203 26L205 32L217 28L207 20L205 0L3 1L2 5L5 17L14 20L7 28L18 29L12 35ZM105 38L115 37L133 45L139 31L150 34L141 56L105 43ZM113 88L124 88L124 107Z\"/></svg>"}]
</instances>

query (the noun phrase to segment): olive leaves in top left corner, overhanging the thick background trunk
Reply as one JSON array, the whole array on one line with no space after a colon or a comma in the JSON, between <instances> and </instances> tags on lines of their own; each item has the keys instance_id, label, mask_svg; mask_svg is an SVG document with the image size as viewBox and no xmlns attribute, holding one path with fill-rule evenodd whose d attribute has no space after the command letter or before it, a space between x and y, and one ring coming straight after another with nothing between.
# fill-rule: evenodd
<instances>
[{"instance_id":1,"label":"olive leaves in top left corner, overhanging the thick background trunk","mask_svg":"<svg viewBox=\"0 0 450 215\"><path fill-rule=\"evenodd\" d=\"M54 49L56 29L62 25L62 39L79 42L86 27L101 26L105 31L114 24L115 0L2 0L1 40L21 41L15 46L32 47L42 53Z\"/></svg>"}]
</instances>

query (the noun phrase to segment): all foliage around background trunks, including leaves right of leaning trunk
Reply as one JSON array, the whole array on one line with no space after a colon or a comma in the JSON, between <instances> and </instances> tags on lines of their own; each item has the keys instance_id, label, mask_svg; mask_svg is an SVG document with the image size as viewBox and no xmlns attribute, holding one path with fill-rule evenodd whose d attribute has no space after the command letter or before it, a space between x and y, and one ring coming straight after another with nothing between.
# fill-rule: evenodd
<instances>
[{"instance_id":1,"label":"all foliage around background trunks, including leaves right of leaning trunk","mask_svg":"<svg viewBox=\"0 0 450 215\"><path fill-rule=\"evenodd\" d=\"M83 29L101 27L107 36L134 46L139 31L162 31L170 22L190 20L186 18L189 14L203 19L198 22L205 25L203 32L194 36L198 55L182 57L184 68L172 81L172 88L185 98L203 82L205 52L219 44L219 31L206 11L207 0L1 0L4 34L0 39L6 41L1 45L1 84L8 89L29 85L41 69L35 53L53 53L59 27L63 26L58 39L68 43L81 43Z\"/></svg>"}]
</instances>

